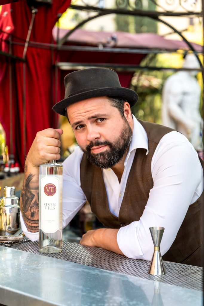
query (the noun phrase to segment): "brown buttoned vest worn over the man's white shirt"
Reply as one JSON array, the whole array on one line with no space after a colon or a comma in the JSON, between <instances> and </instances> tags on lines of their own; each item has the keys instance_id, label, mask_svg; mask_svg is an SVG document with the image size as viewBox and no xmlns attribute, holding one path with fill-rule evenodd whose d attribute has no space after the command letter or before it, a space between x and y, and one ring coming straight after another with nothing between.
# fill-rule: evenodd
<instances>
[{"instance_id":1,"label":"brown buttoned vest worn over the man's white shirt","mask_svg":"<svg viewBox=\"0 0 204 306\"><path fill-rule=\"evenodd\" d=\"M151 174L152 156L161 138L173 131L162 125L138 121L147 132L149 153L146 155L146 149L136 149L118 217L109 210L101 168L92 165L85 154L82 157L80 165L81 188L91 205L92 212L107 228L119 229L140 219L147 204L150 189L154 185ZM203 199L203 192L200 198L189 206L175 241L163 256L164 260L202 266L201 199Z\"/></svg>"}]
</instances>

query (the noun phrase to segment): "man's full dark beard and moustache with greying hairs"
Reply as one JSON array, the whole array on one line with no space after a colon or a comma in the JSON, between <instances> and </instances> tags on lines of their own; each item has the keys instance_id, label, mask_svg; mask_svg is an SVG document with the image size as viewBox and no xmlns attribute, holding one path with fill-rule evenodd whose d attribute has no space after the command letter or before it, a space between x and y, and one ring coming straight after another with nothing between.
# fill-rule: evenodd
<instances>
[{"instance_id":1,"label":"man's full dark beard and moustache with greying hairs","mask_svg":"<svg viewBox=\"0 0 204 306\"><path fill-rule=\"evenodd\" d=\"M126 121L126 122L125 122ZM111 168L115 166L124 156L132 140L132 130L128 121L124 119L124 127L122 129L121 135L117 138L114 143L109 141L99 141L90 142L86 149L81 150L87 155L88 160L100 167L100 168ZM100 153L92 153L91 148L96 146L108 145L109 148Z\"/></svg>"}]
</instances>

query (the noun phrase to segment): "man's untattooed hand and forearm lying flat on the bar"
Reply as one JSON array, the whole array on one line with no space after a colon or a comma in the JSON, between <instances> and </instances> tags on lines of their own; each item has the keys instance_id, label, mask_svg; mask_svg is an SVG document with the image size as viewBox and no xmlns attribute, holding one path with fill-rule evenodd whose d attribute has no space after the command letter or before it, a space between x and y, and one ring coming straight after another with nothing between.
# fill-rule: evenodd
<instances>
[{"instance_id":1,"label":"man's untattooed hand and forearm lying flat on the bar","mask_svg":"<svg viewBox=\"0 0 204 306\"><path fill-rule=\"evenodd\" d=\"M82 236L80 244L89 247L104 248L117 254L124 255L117 244L117 233L118 230L114 229L89 230Z\"/></svg>"}]
</instances>

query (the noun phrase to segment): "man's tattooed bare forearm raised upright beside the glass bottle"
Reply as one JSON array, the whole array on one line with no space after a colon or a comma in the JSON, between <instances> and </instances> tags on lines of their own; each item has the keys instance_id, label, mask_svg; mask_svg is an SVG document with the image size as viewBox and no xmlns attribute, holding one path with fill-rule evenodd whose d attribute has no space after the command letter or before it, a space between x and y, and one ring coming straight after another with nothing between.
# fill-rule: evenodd
<instances>
[{"instance_id":1,"label":"man's tattooed bare forearm raised upright beside the glass bottle","mask_svg":"<svg viewBox=\"0 0 204 306\"><path fill-rule=\"evenodd\" d=\"M29 232L39 230L39 168L25 163L25 177L20 196L20 210Z\"/></svg>"}]
</instances>

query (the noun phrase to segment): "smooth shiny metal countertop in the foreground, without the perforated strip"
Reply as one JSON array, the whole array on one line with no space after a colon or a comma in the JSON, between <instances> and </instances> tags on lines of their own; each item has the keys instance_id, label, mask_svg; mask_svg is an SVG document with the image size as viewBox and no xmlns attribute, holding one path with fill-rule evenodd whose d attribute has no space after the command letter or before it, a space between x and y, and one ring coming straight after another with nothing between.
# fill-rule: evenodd
<instances>
[{"instance_id":1,"label":"smooth shiny metal countertop in the foreground, without the perforated strip","mask_svg":"<svg viewBox=\"0 0 204 306\"><path fill-rule=\"evenodd\" d=\"M0 246L7 306L202 306L202 291Z\"/></svg>"}]
</instances>

